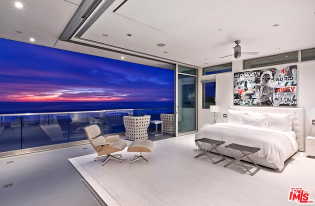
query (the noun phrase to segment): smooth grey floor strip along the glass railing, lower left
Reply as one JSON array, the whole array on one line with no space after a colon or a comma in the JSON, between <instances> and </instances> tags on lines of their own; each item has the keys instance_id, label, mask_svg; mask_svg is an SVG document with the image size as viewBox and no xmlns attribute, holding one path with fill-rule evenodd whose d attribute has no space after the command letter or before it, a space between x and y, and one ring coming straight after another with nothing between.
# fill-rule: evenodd
<instances>
[{"instance_id":1,"label":"smooth grey floor strip along the glass railing, lower left","mask_svg":"<svg viewBox=\"0 0 315 206\"><path fill-rule=\"evenodd\" d=\"M68 158L95 153L91 145L0 159L1 206L100 206Z\"/></svg>"}]
</instances>

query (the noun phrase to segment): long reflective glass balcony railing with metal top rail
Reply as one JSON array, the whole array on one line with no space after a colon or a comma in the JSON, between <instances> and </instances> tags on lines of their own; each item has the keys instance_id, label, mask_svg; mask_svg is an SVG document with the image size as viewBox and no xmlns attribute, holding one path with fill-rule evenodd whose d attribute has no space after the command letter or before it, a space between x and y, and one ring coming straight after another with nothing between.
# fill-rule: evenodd
<instances>
[{"instance_id":1,"label":"long reflective glass balcony railing with metal top rail","mask_svg":"<svg viewBox=\"0 0 315 206\"><path fill-rule=\"evenodd\" d=\"M124 116L173 114L173 108L102 110L93 112L0 115L0 152L87 140L84 127L99 125L102 135L124 133ZM149 126L155 129L155 125Z\"/></svg>"}]
</instances>

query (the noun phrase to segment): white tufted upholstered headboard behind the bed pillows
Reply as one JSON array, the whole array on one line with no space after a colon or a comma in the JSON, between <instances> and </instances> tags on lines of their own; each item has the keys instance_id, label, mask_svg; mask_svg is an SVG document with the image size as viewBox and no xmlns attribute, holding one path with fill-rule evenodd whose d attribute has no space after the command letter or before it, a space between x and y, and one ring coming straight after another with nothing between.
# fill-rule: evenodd
<instances>
[{"instance_id":1,"label":"white tufted upholstered headboard behind the bed pillows","mask_svg":"<svg viewBox=\"0 0 315 206\"><path fill-rule=\"evenodd\" d=\"M296 133L297 145L299 151L305 151L305 135L304 135L304 109L289 107L246 107L246 106L230 106L231 110L247 110L251 112L270 112L270 113L292 113L292 130Z\"/></svg>"}]
</instances>

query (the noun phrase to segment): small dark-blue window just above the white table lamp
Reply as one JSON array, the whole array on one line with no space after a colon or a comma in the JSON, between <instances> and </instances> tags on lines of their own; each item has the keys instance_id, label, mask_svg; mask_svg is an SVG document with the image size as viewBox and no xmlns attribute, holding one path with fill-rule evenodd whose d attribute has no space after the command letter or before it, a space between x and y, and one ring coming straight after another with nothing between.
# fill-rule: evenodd
<instances>
[{"instance_id":1,"label":"small dark-blue window just above the white table lamp","mask_svg":"<svg viewBox=\"0 0 315 206\"><path fill-rule=\"evenodd\" d=\"M209 109L216 105L216 80L207 80L202 83L202 109Z\"/></svg>"}]
</instances>

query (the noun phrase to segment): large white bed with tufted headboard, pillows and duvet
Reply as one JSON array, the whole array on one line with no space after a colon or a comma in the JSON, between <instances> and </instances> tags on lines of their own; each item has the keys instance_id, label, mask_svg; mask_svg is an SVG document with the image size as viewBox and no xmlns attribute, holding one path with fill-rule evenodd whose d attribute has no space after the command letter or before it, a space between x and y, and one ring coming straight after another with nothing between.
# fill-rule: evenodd
<instances>
[{"instance_id":1,"label":"large white bed with tufted headboard, pillows and duvet","mask_svg":"<svg viewBox=\"0 0 315 206\"><path fill-rule=\"evenodd\" d=\"M195 134L195 139L201 138L224 141L218 150L226 156L231 154L224 146L231 143L259 147L252 159L282 170L288 158L305 149L304 109L231 106L227 121L204 126Z\"/></svg>"}]
</instances>

